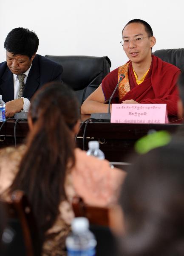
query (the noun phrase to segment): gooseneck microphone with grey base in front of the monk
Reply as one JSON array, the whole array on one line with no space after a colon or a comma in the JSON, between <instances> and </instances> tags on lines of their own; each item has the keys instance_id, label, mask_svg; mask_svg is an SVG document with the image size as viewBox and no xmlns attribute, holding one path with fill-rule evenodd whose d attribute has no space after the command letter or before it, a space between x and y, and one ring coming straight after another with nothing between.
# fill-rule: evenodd
<instances>
[{"instance_id":1,"label":"gooseneck microphone with grey base in front of the monk","mask_svg":"<svg viewBox=\"0 0 184 256\"><path fill-rule=\"evenodd\" d=\"M108 113L92 113L91 114L91 118L94 118L94 119L102 119L102 122L110 122L110 117L111 117L111 113L110 113L110 102L114 96L114 93L116 92L118 86L119 86L119 83L125 78L125 75L124 74L120 74L119 76L119 82L117 83L115 89L113 90L113 93L112 95L110 96L109 98L109 103L108 103Z\"/></svg>"}]
</instances>

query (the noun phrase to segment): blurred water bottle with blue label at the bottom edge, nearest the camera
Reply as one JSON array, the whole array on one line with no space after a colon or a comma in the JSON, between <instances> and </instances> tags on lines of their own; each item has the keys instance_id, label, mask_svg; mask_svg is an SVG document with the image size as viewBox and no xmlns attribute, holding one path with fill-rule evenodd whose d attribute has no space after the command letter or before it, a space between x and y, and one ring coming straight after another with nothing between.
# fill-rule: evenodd
<instances>
[{"instance_id":1,"label":"blurred water bottle with blue label at the bottom edge, nearest the camera","mask_svg":"<svg viewBox=\"0 0 184 256\"><path fill-rule=\"evenodd\" d=\"M74 218L71 234L66 238L68 256L95 256L96 239L84 217Z\"/></svg>"}]
</instances>

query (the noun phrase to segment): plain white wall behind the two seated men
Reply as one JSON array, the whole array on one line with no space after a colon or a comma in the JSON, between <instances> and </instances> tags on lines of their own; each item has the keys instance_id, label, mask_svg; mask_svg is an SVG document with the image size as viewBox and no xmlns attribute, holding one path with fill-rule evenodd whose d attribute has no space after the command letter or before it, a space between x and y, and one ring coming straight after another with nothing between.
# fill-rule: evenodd
<instances>
[{"instance_id":1,"label":"plain white wall behind the two seated men","mask_svg":"<svg viewBox=\"0 0 184 256\"><path fill-rule=\"evenodd\" d=\"M11 29L34 30L41 55L108 56L111 70L127 61L119 41L123 26L146 20L157 49L184 48L184 3L181 0L0 0L0 62Z\"/></svg>"}]
</instances>

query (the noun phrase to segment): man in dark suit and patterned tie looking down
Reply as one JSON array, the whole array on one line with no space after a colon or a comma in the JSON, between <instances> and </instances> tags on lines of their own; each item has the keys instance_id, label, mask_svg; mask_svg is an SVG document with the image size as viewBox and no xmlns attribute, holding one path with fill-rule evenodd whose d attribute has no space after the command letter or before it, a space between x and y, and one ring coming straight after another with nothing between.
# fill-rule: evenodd
<instances>
[{"instance_id":1,"label":"man in dark suit and patterned tie looking down","mask_svg":"<svg viewBox=\"0 0 184 256\"><path fill-rule=\"evenodd\" d=\"M49 81L61 81L62 66L36 54L39 39L29 29L15 28L6 37L6 61L0 63L0 94L6 117L28 112L34 93Z\"/></svg>"}]
</instances>

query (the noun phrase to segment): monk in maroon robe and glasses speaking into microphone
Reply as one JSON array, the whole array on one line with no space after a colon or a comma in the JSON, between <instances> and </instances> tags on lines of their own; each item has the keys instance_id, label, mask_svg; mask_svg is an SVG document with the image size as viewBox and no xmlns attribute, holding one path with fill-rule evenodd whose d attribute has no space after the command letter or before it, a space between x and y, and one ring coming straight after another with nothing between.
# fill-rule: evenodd
<instances>
[{"instance_id":1,"label":"monk in maroon robe and glasses speaking into microphone","mask_svg":"<svg viewBox=\"0 0 184 256\"><path fill-rule=\"evenodd\" d=\"M176 81L180 70L152 55L156 38L144 20L130 20L122 31L121 41L129 61L110 72L102 84L85 100L82 114L107 112L108 102L121 74L125 75L112 103L166 103L169 115L177 115L178 90ZM111 106L110 106L111 107Z\"/></svg>"}]
</instances>

